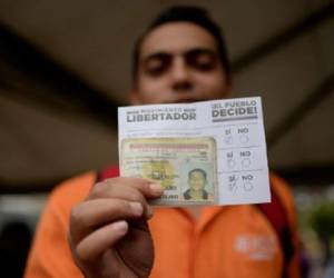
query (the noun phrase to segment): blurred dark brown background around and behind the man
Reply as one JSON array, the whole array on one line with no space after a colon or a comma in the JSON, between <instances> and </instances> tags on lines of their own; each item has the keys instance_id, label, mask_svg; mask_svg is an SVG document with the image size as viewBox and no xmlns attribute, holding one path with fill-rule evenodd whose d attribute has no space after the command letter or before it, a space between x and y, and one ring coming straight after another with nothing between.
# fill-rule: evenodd
<instances>
[{"instance_id":1,"label":"blurred dark brown background around and behind the man","mask_svg":"<svg viewBox=\"0 0 334 278\"><path fill-rule=\"evenodd\" d=\"M263 97L269 167L293 187L308 277L334 277L334 1L0 0L0 264L17 270L8 277L21 276L50 190L117 163L134 41L176 3L207 8L225 31L235 96Z\"/></svg>"}]
</instances>

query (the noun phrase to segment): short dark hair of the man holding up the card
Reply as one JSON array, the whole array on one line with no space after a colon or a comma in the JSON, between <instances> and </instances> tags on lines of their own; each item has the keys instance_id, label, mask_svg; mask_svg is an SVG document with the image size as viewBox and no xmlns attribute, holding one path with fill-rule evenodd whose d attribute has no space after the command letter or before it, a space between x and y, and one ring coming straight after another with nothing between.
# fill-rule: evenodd
<instances>
[{"instance_id":1,"label":"short dark hair of the man holding up the card","mask_svg":"<svg viewBox=\"0 0 334 278\"><path fill-rule=\"evenodd\" d=\"M197 24L214 37L226 77L227 79L230 79L230 62L228 59L226 42L220 28L212 20L208 11L199 7L174 6L167 10L164 10L136 41L132 51L132 80L136 80L138 73L140 47L146 36L159 26L180 21Z\"/></svg>"}]
</instances>

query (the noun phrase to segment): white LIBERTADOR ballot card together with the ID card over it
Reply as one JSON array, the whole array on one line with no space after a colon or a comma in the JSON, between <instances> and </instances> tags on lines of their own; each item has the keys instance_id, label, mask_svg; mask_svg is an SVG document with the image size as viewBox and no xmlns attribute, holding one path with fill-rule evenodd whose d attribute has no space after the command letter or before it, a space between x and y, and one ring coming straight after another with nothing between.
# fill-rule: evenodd
<instances>
[{"instance_id":1,"label":"white LIBERTADOR ballot card together with the ID card over it","mask_svg":"<svg viewBox=\"0 0 334 278\"><path fill-rule=\"evenodd\" d=\"M118 108L121 177L159 182L158 206L271 201L259 97Z\"/></svg>"}]
</instances>

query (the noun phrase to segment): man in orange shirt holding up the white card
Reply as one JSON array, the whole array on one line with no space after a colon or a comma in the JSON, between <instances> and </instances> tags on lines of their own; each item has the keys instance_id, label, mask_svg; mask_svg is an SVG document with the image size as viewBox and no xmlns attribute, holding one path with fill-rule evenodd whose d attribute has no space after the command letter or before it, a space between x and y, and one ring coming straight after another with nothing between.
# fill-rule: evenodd
<instances>
[{"instance_id":1,"label":"man in orange shirt holding up the white card","mask_svg":"<svg viewBox=\"0 0 334 278\"><path fill-rule=\"evenodd\" d=\"M139 39L132 105L226 98L229 64L218 27L197 8L165 11ZM50 197L26 277L298 277L268 219L256 206L160 208L158 183L88 172ZM272 177L292 227L293 200ZM155 215L153 217L153 215ZM150 219L148 221L148 219ZM293 247L297 246L295 229ZM69 244L68 244L69 241Z\"/></svg>"}]
</instances>

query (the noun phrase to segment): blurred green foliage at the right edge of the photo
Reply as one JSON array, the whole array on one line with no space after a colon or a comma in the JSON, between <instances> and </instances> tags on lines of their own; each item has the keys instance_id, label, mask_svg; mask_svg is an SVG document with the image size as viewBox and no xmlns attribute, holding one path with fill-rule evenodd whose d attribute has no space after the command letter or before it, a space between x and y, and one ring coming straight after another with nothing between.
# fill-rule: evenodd
<instances>
[{"instance_id":1,"label":"blurred green foliage at the right edge of the photo","mask_svg":"<svg viewBox=\"0 0 334 278\"><path fill-rule=\"evenodd\" d=\"M320 238L331 238L334 235L334 202L322 202L315 207L310 224Z\"/></svg>"}]
</instances>

